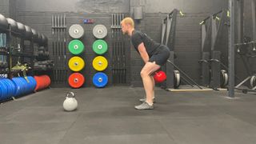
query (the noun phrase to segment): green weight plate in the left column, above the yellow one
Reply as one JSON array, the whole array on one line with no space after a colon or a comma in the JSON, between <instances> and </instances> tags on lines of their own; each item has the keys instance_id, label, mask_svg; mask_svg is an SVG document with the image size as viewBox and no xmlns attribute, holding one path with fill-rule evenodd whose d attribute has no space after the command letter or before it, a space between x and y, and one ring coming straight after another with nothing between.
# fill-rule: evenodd
<instances>
[{"instance_id":1,"label":"green weight plate in the left column, above the yellow one","mask_svg":"<svg viewBox=\"0 0 256 144\"><path fill-rule=\"evenodd\" d=\"M74 54L74 55L81 54L84 49L85 49L85 46L83 45L83 43L77 39L69 43L69 50L71 54Z\"/></svg>"}]
</instances>

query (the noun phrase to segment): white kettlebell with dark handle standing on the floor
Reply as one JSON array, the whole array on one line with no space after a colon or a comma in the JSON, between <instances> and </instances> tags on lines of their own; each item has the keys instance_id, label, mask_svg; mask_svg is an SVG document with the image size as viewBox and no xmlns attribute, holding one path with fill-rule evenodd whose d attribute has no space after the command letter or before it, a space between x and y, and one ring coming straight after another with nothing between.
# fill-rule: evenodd
<instances>
[{"instance_id":1,"label":"white kettlebell with dark handle standing on the floor","mask_svg":"<svg viewBox=\"0 0 256 144\"><path fill-rule=\"evenodd\" d=\"M78 107L78 101L74 98L73 92L68 92L66 94L66 99L63 102L63 108L66 111L73 111L76 110Z\"/></svg>"}]
</instances>

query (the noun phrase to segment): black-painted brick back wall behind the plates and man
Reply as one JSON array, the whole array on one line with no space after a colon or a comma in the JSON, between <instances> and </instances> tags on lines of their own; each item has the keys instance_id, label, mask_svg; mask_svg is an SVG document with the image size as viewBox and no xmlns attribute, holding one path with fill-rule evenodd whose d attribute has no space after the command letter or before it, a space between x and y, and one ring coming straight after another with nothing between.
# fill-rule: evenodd
<instances>
[{"instance_id":1,"label":"black-painted brick back wall behind the plates and man","mask_svg":"<svg viewBox=\"0 0 256 144\"><path fill-rule=\"evenodd\" d=\"M2 0L1 0L2 1ZM5 1L8 3L8 1ZM106 25L109 35L106 41L110 41L110 14L127 13L133 16L135 6L143 6L143 19L137 22L136 28L146 32L155 41L160 42L162 18L171 10L177 8L186 15L184 18L178 18L176 33L175 52L178 58L175 63L182 70L188 73L192 78L199 82L200 78L200 59L201 50L201 27L199 22L203 18L213 14L228 5L227 0L19 0L14 5L16 10L14 17L17 21L23 22L34 29L43 32L48 38L51 34L51 15L67 15L67 28L71 24L82 24L84 18L95 19L95 24ZM10 10L7 10L10 11ZM83 24L82 24L83 25ZM83 42L86 49L89 50L94 37L91 33L94 25L84 25L86 30ZM68 36L67 36L68 37ZM88 49L89 48L89 49ZM49 46L50 49L50 46ZM91 73L94 73L90 66L94 54L86 51L86 75L85 86L91 86ZM110 56L110 55L109 55ZM128 65L129 66L129 65ZM140 70L143 62L139 55L130 47L130 66L128 67L130 75L127 75L128 83L132 86L142 86ZM110 75L110 67L107 74ZM88 73L90 72L90 73ZM111 82L110 82L111 83Z\"/></svg>"}]
</instances>

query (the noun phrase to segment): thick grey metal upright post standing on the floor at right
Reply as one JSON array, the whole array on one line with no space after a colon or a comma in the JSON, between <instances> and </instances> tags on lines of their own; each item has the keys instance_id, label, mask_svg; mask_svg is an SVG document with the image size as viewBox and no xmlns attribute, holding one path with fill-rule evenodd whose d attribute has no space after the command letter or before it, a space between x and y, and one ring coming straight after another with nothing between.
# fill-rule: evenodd
<instances>
[{"instance_id":1,"label":"thick grey metal upright post standing on the floor at right","mask_svg":"<svg viewBox=\"0 0 256 144\"><path fill-rule=\"evenodd\" d=\"M229 30L229 97L234 98L234 5L235 0L229 0L230 30Z\"/></svg>"}]
</instances>

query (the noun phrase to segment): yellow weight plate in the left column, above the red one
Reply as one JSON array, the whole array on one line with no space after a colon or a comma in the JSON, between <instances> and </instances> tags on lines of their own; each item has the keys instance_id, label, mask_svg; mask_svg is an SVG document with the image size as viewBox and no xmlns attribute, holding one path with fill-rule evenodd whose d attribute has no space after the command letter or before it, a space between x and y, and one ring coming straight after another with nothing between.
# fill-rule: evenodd
<instances>
[{"instance_id":1,"label":"yellow weight plate in the left column, above the red one","mask_svg":"<svg viewBox=\"0 0 256 144\"><path fill-rule=\"evenodd\" d=\"M80 57L70 58L70 61L69 61L70 70L80 71L85 67L85 65L86 65L85 62Z\"/></svg>"}]
</instances>

